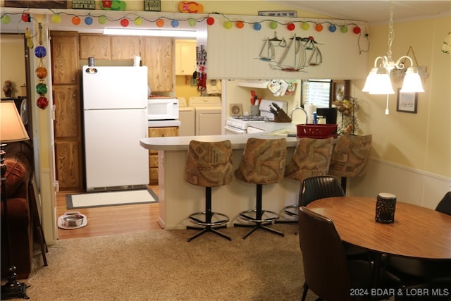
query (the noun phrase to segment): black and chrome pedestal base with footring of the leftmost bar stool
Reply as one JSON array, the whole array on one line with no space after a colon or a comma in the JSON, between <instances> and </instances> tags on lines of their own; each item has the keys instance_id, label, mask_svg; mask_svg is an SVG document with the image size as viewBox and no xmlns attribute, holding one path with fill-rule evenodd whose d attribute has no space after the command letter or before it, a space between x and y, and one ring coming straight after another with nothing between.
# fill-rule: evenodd
<instances>
[{"instance_id":1,"label":"black and chrome pedestal base with footring of the leftmost bar stool","mask_svg":"<svg viewBox=\"0 0 451 301\"><path fill-rule=\"evenodd\" d=\"M202 221L200 219L197 219L194 217L194 215L196 214L204 214L205 215L205 221ZM188 239L188 241L190 242L191 240L194 240L194 238L199 237L200 235L206 233L206 232L211 232L214 233L216 235L222 236L223 238L226 238L228 240L232 240L232 238L228 237L227 235L217 231L216 229L221 229L221 228L227 228L226 223L229 221L228 217L224 214L218 214L223 216L225 219L222 219L221 221L215 221L212 222L211 221L211 217L214 216L215 214L218 214L216 212L212 212L211 211L211 187L206 187L205 188L205 211L204 212L197 212L195 214L192 214L190 216L190 221L193 223L197 223L198 225L202 225L203 227L192 227L192 226L187 226L187 229L197 229L197 230L202 230L199 233L197 233L196 235L192 236L191 238ZM214 227L214 228L213 228Z\"/></svg>"}]
</instances>

